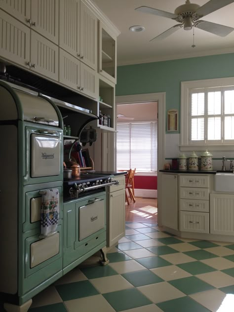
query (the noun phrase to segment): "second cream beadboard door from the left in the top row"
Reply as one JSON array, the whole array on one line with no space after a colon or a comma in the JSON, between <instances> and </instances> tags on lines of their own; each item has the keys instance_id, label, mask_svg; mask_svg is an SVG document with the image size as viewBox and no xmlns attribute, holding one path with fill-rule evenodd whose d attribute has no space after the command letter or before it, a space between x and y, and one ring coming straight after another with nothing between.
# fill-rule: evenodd
<instances>
[{"instance_id":1,"label":"second cream beadboard door from the left in the top row","mask_svg":"<svg viewBox=\"0 0 234 312\"><path fill-rule=\"evenodd\" d=\"M58 0L31 0L31 20L35 31L58 44Z\"/></svg>"}]
</instances>

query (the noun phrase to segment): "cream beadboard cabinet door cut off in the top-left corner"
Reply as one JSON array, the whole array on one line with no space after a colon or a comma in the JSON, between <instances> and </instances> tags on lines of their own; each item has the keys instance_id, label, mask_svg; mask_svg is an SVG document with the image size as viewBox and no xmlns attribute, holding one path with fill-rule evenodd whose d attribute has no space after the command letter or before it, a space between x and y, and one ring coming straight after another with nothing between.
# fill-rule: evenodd
<instances>
[{"instance_id":1,"label":"cream beadboard cabinet door cut off in the top-left corner","mask_svg":"<svg viewBox=\"0 0 234 312\"><path fill-rule=\"evenodd\" d=\"M31 0L0 0L0 8L17 18L21 22L30 25Z\"/></svg>"}]
</instances>

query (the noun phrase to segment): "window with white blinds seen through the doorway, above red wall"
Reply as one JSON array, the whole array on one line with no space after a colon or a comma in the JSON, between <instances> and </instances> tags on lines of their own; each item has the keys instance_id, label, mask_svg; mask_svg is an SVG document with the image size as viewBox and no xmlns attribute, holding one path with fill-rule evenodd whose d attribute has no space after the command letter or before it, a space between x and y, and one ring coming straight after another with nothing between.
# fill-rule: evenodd
<instances>
[{"instance_id":1,"label":"window with white blinds seen through the doorway, above red wall","mask_svg":"<svg viewBox=\"0 0 234 312\"><path fill-rule=\"evenodd\" d=\"M117 123L117 170L157 171L157 121Z\"/></svg>"}]
</instances>

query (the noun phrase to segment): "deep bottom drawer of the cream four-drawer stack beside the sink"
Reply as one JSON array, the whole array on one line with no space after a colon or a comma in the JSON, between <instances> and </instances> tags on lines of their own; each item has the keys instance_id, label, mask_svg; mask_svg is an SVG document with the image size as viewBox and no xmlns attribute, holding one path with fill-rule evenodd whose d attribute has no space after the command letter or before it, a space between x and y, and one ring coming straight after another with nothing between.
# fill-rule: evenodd
<instances>
[{"instance_id":1,"label":"deep bottom drawer of the cream four-drawer stack beside the sink","mask_svg":"<svg viewBox=\"0 0 234 312\"><path fill-rule=\"evenodd\" d=\"M209 233L209 213L181 211L180 231Z\"/></svg>"}]
</instances>

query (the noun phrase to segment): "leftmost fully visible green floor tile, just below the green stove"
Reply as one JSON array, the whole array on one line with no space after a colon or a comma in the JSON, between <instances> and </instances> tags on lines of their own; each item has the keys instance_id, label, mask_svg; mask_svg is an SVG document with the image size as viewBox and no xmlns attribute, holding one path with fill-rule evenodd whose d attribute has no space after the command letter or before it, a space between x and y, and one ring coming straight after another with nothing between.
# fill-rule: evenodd
<instances>
[{"instance_id":1,"label":"leftmost fully visible green floor tile, just below the green stove","mask_svg":"<svg viewBox=\"0 0 234 312\"><path fill-rule=\"evenodd\" d=\"M98 295L99 292L88 280L55 286L63 301Z\"/></svg>"}]
</instances>

